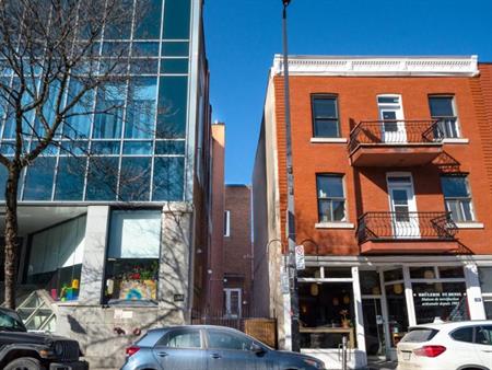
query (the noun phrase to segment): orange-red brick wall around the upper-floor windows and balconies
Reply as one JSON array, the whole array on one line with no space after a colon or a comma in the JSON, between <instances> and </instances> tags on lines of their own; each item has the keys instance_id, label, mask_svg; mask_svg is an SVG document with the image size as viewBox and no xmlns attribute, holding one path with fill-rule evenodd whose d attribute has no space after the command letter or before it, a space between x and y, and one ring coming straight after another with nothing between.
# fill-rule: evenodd
<instances>
[{"instance_id":1,"label":"orange-red brick wall around the upper-floor windows and balconies","mask_svg":"<svg viewBox=\"0 0 492 370\"><path fill-rule=\"evenodd\" d=\"M355 230L315 229L318 221L316 173L344 175L348 221L356 227L365 211L389 211L386 172L407 171L413 176L419 211L444 211L441 170L435 164L401 167L351 166L347 143L313 143L311 95L338 95L341 137L349 138L351 128L361 120L378 117L378 94L400 94L406 119L430 119L429 94L453 94L462 137L469 143L445 144L442 161L458 163L469 174L477 221L484 229L461 229L460 242L475 254L492 253L492 147L491 125L492 68L481 66L481 77L291 77L291 114L297 242L309 239L316 251L308 253L356 255ZM279 163L281 235L284 235L286 208L285 135L283 116L283 79L274 77L277 143Z\"/></svg>"}]
</instances>

